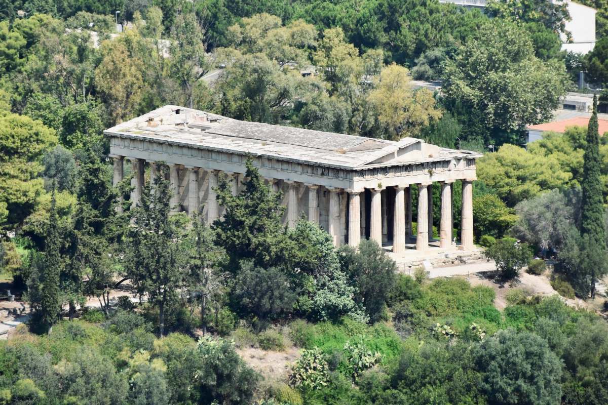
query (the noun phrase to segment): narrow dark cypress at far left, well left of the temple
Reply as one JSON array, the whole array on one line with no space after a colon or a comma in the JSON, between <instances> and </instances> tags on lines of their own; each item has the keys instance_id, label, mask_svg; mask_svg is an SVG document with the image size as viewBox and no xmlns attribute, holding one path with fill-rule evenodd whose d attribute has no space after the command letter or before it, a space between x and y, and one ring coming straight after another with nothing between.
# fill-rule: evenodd
<instances>
[{"instance_id":1,"label":"narrow dark cypress at far left, well left of the temple","mask_svg":"<svg viewBox=\"0 0 608 405\"><path fill-rule=\"evenodd\" d=\"M60 235L57 223L55 189L50 200L49 228L44 242L44 267L40 274L40 321L50 330L61 309L59 276L61 273Z\"/></svg>"}]
</instances>

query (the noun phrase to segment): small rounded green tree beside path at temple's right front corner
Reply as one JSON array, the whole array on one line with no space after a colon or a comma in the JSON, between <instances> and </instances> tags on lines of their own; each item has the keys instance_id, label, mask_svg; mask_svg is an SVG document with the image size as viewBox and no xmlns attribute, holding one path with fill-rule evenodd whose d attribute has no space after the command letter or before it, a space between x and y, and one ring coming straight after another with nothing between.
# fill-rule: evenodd
<instances>
[{"instance_id":1,"label":"small rounded green tree beside path at temple's right front corner","mask_svg":"<svg viewBox=\"0 0 608 405\"><path fill-rule=\"evenodd\" d=\"M517 243L515 239L499 239L483 252L486 257L496 262L496 270L505 279L513 279L532 259L532 251L527 243Z\"/></svg>"}]
</instances>

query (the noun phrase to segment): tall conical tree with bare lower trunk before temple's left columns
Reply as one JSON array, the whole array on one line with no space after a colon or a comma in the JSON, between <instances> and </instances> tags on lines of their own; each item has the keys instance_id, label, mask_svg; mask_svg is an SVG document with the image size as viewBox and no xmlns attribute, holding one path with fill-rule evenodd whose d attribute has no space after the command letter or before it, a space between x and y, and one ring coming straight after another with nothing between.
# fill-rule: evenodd
<instances>
[{"instance_id":1,"label":"tall conical tree with bare lower trunk before temple's left columns","mask_svg":"<svg viewBox=\"0 0 608 405\"><path fill-rule=\"evenodd\" d=\"M170 218L171 189L167 165L158 165L154 185L143 188L140 205L130 211L125 270L140 295L159 311L158 332L165 333L165 308L175 299L184 277L183 235Z\"/></svg>"}]
</instances>

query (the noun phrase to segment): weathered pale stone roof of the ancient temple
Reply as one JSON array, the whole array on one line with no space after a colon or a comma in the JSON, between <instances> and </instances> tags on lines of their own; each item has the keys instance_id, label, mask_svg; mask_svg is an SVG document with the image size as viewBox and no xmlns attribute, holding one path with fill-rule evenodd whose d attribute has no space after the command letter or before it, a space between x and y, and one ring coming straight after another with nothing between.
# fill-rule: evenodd
<instances>
[{"instance_id":1,"label":"weathered pale stone roof of the ancient temple","mask_svg":"<svg viewBox=\"0 0 608 405\"><path fill-rule=\"evenodd\" d=\"M179 106L160 107L104 133L345 169L481 157L477 152L440 148L417 138L388 141L335 134L234 120Z\"/></svg>"}]
</instances>

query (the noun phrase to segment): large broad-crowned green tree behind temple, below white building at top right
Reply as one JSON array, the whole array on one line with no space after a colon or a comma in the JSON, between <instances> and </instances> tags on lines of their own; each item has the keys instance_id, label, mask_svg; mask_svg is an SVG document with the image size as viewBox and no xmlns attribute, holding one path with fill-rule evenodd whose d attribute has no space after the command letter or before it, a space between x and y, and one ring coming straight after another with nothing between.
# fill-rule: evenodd
<instances>
[{"instance_id":1,"label":"large broad-crowned green tree behind temple, below white building at top right","mask_svg":"<svg viewBox=\"0 0 608 405\"><path fill-rule=\"evenodd\" d=\"M499 19L458 48L444 77L445 97L480 112L494 140L500 132L549 120L565 91L564 63L539 60L528 35Z\"/></svg>"}]
</instances>

